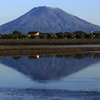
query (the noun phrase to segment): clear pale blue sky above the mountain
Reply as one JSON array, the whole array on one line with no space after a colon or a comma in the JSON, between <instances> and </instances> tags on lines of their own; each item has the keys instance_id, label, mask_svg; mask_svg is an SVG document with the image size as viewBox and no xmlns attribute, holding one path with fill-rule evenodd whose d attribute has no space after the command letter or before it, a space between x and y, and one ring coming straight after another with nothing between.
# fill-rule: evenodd
<instances>
[{"instance_id":1,"label":"clear pale blue sky above the mountain","mask_svg":"<svg viewBox=\"0 0 100 100\"><path fill-rule=\"evenodd\" d=\"M100 0L1 0L0 25L38 6L58 7L67 13L100 25Z\"/></svg>"}]
</instances>

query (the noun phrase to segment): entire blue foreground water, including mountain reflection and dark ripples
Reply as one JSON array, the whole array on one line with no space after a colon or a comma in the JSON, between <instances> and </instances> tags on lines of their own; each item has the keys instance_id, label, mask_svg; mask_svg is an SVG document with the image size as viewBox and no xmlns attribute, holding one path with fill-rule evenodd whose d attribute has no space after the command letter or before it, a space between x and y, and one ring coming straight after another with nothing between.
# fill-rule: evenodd
<instances>
[{"instance_id":1,"label":"entire blue foreground water, including mountain reflection and dark ripples","mask_svg":"<svg viewBox=\"0 0 100 100\"><path fill-rule=\"evenodd\" d=\"M100 100L100 52L1 57L0 100Z\"/></svg>"}]
</instances>

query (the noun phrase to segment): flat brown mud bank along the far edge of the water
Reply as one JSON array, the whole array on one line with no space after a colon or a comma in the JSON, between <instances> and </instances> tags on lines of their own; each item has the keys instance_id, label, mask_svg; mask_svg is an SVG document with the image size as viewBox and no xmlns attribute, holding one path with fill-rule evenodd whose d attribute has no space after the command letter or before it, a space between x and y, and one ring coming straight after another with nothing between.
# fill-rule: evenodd
<instances>
[{"instance_id":1,"label":"flat brown mud bank along the far edge of the water","mask_svg":"<svg viewBox=\"0 0 100 100\"><path fill-rule=\"evenodd\" d=\"M100 47L0 46L0 56L69 54L100 51Z\"/></svg>"}]
</instances>

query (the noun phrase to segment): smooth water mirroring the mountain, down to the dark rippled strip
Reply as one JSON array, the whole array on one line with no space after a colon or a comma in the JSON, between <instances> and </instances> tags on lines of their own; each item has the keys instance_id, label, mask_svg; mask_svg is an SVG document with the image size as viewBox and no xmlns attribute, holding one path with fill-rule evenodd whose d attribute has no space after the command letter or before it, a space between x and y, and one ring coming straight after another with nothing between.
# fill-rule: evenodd
<instances>
[{"instance_id":1,"label":"smooth water mirroring the mountain, down to the dark rippled strip","mask_svg":"<svg viewBox=\"0 0 100 100\"><path fill-rule=\"evenodd\" d=\"M2 57L0 88L100 90L100 53Z\"/></svg>"}]
</instances>

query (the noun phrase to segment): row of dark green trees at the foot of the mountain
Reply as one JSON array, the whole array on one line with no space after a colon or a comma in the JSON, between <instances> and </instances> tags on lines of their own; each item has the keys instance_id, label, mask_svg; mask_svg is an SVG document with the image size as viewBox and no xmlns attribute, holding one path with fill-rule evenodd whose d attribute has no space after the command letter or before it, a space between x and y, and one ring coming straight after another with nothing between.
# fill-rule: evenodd
<instances>
[{"instance_id":1,"label":"row of dark green trees at the foot of the mountain","mask_svg":"<svg viewBox=\"0 0 100 100\"><path fill-rule=\"evenodd\" d=\"M9 34L0 34L1 39L93 39L100 38L100 32L86 33L83 31L59 32L59 33L40 33L39 35L22 34L20 31L14 31Z\"/></svg>"}]
</instances>

